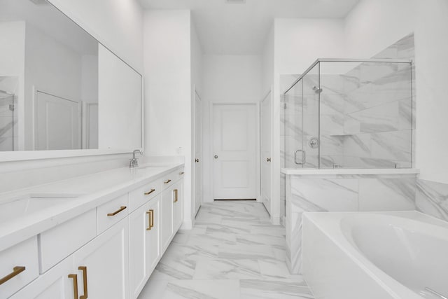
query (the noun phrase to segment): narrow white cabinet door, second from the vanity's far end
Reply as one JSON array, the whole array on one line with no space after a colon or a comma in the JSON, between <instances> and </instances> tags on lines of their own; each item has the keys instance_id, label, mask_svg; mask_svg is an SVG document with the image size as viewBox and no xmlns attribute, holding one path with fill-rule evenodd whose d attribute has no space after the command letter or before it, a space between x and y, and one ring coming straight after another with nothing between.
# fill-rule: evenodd
<instances>
[{"instance_id":1,"label":"narrow white cabinet door, second from the vanity's far end","mask_svg":"<svg viewBox=\"0 0 448 299\"><path fill-rule=\"evenodd\" d=\"M160 249L165 251L173 232L173 190L168 188L160 198Z\"/></svg>"}]
</instances>

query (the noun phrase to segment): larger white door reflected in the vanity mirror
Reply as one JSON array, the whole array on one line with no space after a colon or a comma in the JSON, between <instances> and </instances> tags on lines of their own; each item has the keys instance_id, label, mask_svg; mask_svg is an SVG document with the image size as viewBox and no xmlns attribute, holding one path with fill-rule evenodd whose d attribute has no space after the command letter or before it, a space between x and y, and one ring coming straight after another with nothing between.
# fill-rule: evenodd
<instances>
[{"instance_id":1,"label":"larger white door reflected in the vanity mirror","mask_svg":"<svg viewBox=\"0 0 448 299\"><path fill-rule=\"evenodd\" d=\"M35 102L35 149L79 149L80 103L39 91Z\"/></svg>"}]
</instances>

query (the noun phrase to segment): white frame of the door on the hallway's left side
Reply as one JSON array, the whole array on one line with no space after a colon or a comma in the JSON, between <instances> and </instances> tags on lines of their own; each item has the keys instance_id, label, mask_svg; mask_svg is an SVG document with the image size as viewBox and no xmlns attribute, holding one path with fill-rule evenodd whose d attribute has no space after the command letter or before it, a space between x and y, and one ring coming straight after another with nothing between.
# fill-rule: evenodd
<instances>
[{"instance_id":1,"label":"white frame of the door on the hallway's left side","mask_svg":"<svg viewBox=\"0 0 448 299\"><path fill-rule=\"evenodd\" d=\"M193 195L193 200L192 200L192 219L193 219L193 224L194 224L194 221L195 221L195 218L196 218L196 214L197 214L197 212L199 212L199 210L201 209L201 206L202 206L202 202L204 202L204 186L203 186L203 181L202 181L202 176L204 175L204 167L202 166L202 165L204 165L204 162L203 161L200 161L200 168L201 168L201 172L202 172L202 175L201 175L201 181L200 181L200 184L201 184L201 186L202 186L202 193L201 193L201 202L200 202L200 207L199 207L199 209L197 209L197 211L196 211L196 209L195 209L195 195L196 195L196 172L195 172L195 169L196 169L196 167L195 167L195 155L196 155L196 127L195 127L195 124L196 124L196 122L195 122L195 119L196 119L196 97L199 99L199 101L200 101L200 105L201 105L201 153L202 153L202 157L201 157L201 159L202 160L204 160L204 134L202 134L202 127L203 127L203 123L204 123L204 113L203 113L203 111L202 111L202 98L201 98L201 96L200 96L200 94L199 94L199 92L197 91L197 88L196 88L196 85L193 85L193 122L192 122L192 125L193 125L193 151L192 151L192 155L191 155L191 157L192 157L192 161L191 161L191 169L192 169L192 190L193 190L193 193L192 193L192 195Z\"/></svg>"}]
</instances>

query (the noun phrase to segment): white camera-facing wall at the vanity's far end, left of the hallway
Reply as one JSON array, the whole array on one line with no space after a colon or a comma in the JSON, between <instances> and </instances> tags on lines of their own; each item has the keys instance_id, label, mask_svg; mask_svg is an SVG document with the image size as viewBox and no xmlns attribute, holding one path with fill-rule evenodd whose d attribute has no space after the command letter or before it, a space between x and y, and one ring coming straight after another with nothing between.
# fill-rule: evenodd
<instances>
[{"instance_id":1,"label":"white camera-facing wall at the vanity's far end, left of the hallway","mask_svg":"<svg viewBox=\"0 0 448 299\"><path fill-rule=\"evenodd\" d=\"M192 204L190 26L190 11L146 11L144 15L146 153L185 155L186 209ZM183 228L191 225L191 214L184 211Z\"/></svg>"}]
</instances>

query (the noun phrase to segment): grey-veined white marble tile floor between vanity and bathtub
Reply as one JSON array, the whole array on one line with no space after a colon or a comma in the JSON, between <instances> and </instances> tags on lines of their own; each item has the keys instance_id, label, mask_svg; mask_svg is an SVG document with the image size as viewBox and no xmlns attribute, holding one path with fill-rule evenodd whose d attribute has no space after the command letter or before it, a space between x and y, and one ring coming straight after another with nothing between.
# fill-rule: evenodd
<instances>
[{"instance_id":1,"label":"grey-veined white marble tile floor between vanity and bathtub","mask_svg":"<svg viewBox=\"0 0 448 299\"><path fill-rule=\"evenodd\" d=\"M285 229L262 204L203 204L193 230L180 230L139 299L309 299L285 263Z\"/></svg>"}]
</instances>

